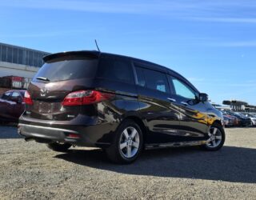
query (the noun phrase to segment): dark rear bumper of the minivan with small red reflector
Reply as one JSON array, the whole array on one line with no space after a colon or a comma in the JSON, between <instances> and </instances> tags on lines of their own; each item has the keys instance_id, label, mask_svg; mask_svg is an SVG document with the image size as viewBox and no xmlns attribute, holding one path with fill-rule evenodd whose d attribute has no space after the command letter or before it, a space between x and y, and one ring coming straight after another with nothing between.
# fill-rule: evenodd
<instances>
[{"instance_id":1,"label":"dark rear bumper of the minivan with small red reflector","mask_svg":"<svg viewBox=\"0 0 256 200\"><path fill-rule=\"evenodd\" d=\"M22 116L18 123L18 134L36 142L69 142L76 146L101 148L110 146L116 127L114 123L82 119L84 116L57 122Z\"/></svg>"}]
</instances>

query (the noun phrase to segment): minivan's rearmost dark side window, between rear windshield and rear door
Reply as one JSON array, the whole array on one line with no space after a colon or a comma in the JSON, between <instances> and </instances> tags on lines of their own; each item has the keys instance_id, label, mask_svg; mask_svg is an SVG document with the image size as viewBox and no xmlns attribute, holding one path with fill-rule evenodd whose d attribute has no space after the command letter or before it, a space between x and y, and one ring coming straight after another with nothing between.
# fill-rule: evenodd
<instances>
[{"instance_id":1,"label":"minivan's rearmost dark side window, between rear windshield and rear door","mask_svg":"<svg viewBox=\"0 0 256 200\"><path fill-rule=\"evenodd\" d=\"M132 66L125 59L101 58L98 65L98 78L134 83Z\"/></svg>"}]
</instances>

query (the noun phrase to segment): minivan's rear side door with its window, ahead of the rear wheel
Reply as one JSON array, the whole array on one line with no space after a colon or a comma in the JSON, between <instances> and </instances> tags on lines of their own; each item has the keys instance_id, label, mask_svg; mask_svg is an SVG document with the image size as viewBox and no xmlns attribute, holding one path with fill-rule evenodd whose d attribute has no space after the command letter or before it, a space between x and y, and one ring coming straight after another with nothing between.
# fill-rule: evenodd
<instances>
[{"instance_id":1,"label":"minivan's rear side door with its window, ahead of the rear wheel","mask_svg":"<svg viewBox=\"0 0 256 200\"><path fill-rule=\"evenodd\" d=\"M146 121L146 143L175 142L179 126L177 108L170 101L170 87L163 71L134 64L140 114Z\"/></svg>"}]
</instances>

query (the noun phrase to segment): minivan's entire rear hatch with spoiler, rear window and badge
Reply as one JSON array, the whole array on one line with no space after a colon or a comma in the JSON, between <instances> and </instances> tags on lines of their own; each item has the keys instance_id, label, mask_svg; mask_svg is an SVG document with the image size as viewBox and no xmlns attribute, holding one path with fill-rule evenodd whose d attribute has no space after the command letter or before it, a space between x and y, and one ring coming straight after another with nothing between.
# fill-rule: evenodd
<instances>
[{"instance_id":1,"label":"minivan's entire rear hatch with spoiler, rear window and badge","mask_svg":"<svg viewBox=\"0 0 256 200\"><path fill-rule=\"evenodd\" d=\"M32 118L71 120L81 112L81 106L62 106L66 95L89 90L98 66L98 52L78 51L50 54L34 76L28 93L32 104L26 113Z\"/></svg>"}]
</instances>

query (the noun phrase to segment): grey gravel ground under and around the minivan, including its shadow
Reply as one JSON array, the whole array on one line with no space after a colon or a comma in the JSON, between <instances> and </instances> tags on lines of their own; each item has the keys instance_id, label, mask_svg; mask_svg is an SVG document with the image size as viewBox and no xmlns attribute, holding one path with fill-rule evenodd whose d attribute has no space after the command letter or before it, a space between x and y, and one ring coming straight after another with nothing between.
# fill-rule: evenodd
<instances>
[{"instance_id":1,"label":"grey gravel ground under and around the minivan, including its shadow","mask_svg":"<svg viewBox=\"0 0 256 200\"><path fill-rule=\"evenodd\" d=\"M218 152L147 150L129 166L102 150L56 153L0 126L0 199L256 199L256 128L226 129Z\"/></svg>"}]
</instances>

